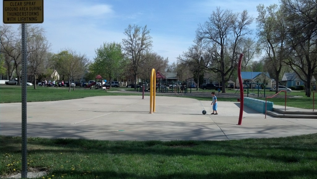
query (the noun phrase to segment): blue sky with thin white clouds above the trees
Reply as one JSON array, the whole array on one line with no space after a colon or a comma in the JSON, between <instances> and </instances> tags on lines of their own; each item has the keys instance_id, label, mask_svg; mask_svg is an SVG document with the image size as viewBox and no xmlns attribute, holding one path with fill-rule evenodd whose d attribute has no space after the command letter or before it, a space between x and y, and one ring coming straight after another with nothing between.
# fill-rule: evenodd
<instances>
[{"instance_id":1,"label":"blue sky with thin white clouds above the trees","mask_svg":"<svg viewBox=\"0 0 317 179\"><path fill-rule=\"evenodd\" d=\"M32 0L30 0L32 1ZM278 0L44 0L45 29L50 51L72 49L93 61L95 49L104 42L121 43L124 30L136 24L150 30L152 52L169 59L169 64L193 45L198 24L220 9L242 12L256 18L256 6ZM3 10L3 6L0 7ZM3 13L1 13L3 16ZM1 18L3 19L3 17ZM18 27L19 24L11 24ZM251 28L256 30L256 23Z\"/></svg>"}]
</instances>

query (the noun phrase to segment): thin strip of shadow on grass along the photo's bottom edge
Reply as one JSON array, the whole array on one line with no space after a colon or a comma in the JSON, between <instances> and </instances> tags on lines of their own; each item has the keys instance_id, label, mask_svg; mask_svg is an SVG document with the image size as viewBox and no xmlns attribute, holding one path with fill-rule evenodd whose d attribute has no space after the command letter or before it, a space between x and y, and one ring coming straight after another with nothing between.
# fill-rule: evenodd
<instances>
[{"instance_id":1,"label":"thin strip of shadow on grass along the photo's bottom edge","mask_svg":"<svg viewBox=\"0 0 317 179\"><path fill-rule=\"evenodd\" d=\"M211 169L212 170L212 169ZM316 178L317 170L314 169L298 169L296 171L221 171L221 172L205 172L206 174L192 173L192 172L178 172L171 174L162 174L156 171L154 174L135 174L127 172L116 171L92 171L91 173L70 173L68 170L53 170L51 172L55 176L68 176L68 178L138 178L138 179L162 179L162 178L195 178L195 179L210 179L210 178L225 178L225 179L259 179L259 178ZM201 172L203 173L203 172ZM67 174L67 175L65 175Z\"/></svg>"}]
</instances>

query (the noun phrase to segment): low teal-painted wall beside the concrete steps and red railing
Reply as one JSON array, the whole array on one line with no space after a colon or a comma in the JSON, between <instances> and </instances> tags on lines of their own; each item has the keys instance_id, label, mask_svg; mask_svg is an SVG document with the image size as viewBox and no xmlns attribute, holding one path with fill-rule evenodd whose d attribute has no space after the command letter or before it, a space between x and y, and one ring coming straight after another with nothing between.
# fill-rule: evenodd
<instances>
[{"instance_id":1,"label":"low teal-painted wall beside the concrete steps and red railing","mask_svg":"<svg viewBox=\"0 0 317 179\"><path fill-rule=\"evenodd\" d=\"M251 109L254 109L262 114L265 114L265 101L254 98L243 98L243 104ZM267 101L266 110L273 111L273 102Z\"/></svg>"}]
</instances>

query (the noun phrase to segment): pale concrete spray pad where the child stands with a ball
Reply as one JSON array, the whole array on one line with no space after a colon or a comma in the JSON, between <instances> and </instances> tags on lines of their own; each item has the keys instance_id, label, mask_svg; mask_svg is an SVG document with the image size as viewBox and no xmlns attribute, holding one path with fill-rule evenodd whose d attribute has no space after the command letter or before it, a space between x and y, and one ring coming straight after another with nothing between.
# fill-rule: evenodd
<instances>
[{"instance_id":1,"label":"pale concrete spray pad where the child stands with a ball","mask_svg":"<svg viewBox=\"0 0 317 179\"><path fill-rule=\"evenodd\" d=\"M27 137L97 140L232 140L269 138L317 132L315 119L273 118L239 102L156 97L149 114L149 96L96 96L84 99L29 102ZM21 136L21 103L0 104L0 134ZM207 114L203 115L202 110Z\"/></svg>"}]
</instances>

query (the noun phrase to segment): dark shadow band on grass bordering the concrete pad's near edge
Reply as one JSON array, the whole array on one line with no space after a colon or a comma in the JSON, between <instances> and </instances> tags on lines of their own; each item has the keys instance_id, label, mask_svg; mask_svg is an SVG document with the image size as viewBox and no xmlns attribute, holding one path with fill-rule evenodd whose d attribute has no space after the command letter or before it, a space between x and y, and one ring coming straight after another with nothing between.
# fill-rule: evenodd
<instances>
[{"instance_id":1,"label":"dark shadow band on grass bordering the concrete pad's near edge","mask_svg":"<svg viewBox=\"0 0 317 179\"><path fill-rule=\"evenodd\" d=\"M274 139L232 141L99 141L85 139L29 138L28 154L81 153L113 155L224 156L284 163L317 160L317 134ZM2 153L19 153L20 137L0 136ZM36 147L32 147L36 146Z\"/></svg>"}]
</instances>

